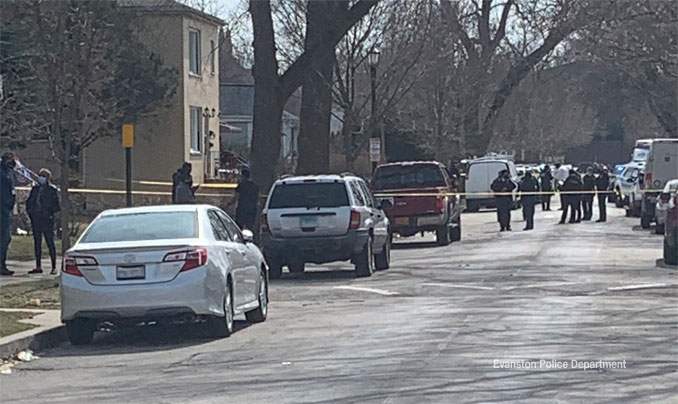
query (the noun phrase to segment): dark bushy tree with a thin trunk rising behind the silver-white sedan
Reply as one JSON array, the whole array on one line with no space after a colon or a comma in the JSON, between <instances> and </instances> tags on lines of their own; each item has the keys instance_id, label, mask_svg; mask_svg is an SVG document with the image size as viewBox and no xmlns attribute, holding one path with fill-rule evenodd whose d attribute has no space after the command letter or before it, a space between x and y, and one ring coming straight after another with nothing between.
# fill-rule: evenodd
<instances>
[{"instance_id":1,"label":"dark bushy tree with a thin trunk rising behind the silver-white sedan","mask_svg":"<svg viewBox=\"0 0 678 404\"><path fill-rule=\"evenodd\" d=\"M69 248L71 166L80 151L121 124L158 106L174 89L174 72L136 38L132 9L115 1L22 0L3 3L11 13L5 29L22 65L12 79L14 93L31 100L37 127L24 138L49 139L60 166L62 246ZM19 104L21 106L21 103ZM3 111L4 112L4 111ZM3 123L7 117L3 113Z\"/></svg>"}]
</instances>

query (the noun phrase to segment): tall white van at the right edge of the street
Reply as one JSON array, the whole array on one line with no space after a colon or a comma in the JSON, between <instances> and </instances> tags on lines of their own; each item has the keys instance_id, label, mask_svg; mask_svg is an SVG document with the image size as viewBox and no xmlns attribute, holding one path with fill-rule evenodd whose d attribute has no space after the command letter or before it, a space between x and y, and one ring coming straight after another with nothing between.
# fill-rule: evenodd
<instances>
[{"instance_id":1,"label":"tall white van at the right edge of the street","mask_svg":"<svg viewBox=\"0 0 678 404\"><path fill-rule=\"evenodd\" d=\"M678 176L678 139L652 139L645 163L640 225L649 229L655 221L657 196Z\"/></svg>"}]
</instances>

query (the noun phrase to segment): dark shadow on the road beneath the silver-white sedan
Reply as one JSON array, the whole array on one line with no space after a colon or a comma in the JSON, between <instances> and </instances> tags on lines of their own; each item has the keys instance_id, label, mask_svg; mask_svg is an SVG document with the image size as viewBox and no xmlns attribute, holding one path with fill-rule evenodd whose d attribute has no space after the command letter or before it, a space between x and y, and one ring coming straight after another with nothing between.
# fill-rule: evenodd
<instances>
[{"instance_id":1,"label":"dark shadow on the road beneath the silver-white sedan","mask_svg":"<svg viewBox=\"0 0 678 404\"><path fill-rule=\"evenodd\" d=\"M251 324L235 321L233 332L237 333ZM50 352L51 357L126 355L143 352L168 351L206 344L214 341L204 323L185 325L152 325L122 328L111 332L97 332L89 345L73 346L68 343Z\"/></svg>"}]
</instances>

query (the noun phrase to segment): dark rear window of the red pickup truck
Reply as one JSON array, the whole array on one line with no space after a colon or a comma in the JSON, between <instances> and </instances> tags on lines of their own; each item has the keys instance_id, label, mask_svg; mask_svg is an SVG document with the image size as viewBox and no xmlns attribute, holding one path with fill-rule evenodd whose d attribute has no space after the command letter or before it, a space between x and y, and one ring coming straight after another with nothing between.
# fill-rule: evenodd
<instances>
[{"instance_id":1,"label":"dark rear window of the red pickup truck","mask_svg":"<svg viewBox=\"0 0 678 404\"><path fill-rule=\"evenodd\" d=\"M444 187L445 178L437 165L415 164L379 167L375 174L375 189Z\"/></svg>"}]
</instances>

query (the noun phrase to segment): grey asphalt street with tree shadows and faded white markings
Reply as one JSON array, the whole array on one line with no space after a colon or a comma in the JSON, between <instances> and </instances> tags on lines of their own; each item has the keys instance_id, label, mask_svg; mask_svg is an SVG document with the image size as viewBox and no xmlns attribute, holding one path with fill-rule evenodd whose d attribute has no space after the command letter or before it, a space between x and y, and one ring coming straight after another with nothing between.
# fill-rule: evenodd
<instances>
[{"instance_id":1,"label":"grey asphalt street with tree shadows and faded white markings","mask_svg":"<svg viewBox=\"0 0 678 404\"><path fill-rule=\"evenodd\" d=\"M557 225L538 209L529 232L514 211L504 233L494 212L464 214L463 241L399 240L371 278L346 263L273 281L268 320L227 339L148 327L46 351L0 376L0 401L676 403L678 270L656 265L660 236L608 210ZM626 362L545 365L572 360Z\"/></svg>"}]
</instances>

